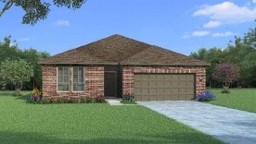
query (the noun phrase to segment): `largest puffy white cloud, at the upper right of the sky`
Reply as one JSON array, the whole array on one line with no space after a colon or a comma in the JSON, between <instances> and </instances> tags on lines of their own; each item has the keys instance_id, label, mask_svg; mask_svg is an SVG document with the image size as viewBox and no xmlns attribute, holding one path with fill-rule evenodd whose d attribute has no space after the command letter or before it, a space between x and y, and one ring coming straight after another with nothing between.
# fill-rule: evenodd
<instances>
[{"instance_id":1,"label":"largest puffy white cloud, at the upper right of the sky","mask_svg":"<svg viewBox=\"0 0 256 144\"><path fill-rule=\"evenodd\" d=\"M254 1L256 0L253 0L253 2ZM201 6L193 13L193 16L206 16L209 17L211 21L219 21L220 24L240 23L245 21L253 21L256 18L256 8L237 6L232 2L223 2L221 4L212 6ZM205 26L207 27L212 25L211 21L205 24Z\"/></svg>"}]
</instances>

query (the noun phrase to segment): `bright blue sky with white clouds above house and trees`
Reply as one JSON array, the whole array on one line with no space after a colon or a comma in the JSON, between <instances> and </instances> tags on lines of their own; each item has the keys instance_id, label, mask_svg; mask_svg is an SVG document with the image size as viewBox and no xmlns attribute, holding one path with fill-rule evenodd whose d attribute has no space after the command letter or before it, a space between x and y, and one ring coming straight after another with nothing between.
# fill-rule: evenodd
<instances>
[{"instance_id":1,"label":"bright blue sky with white clouds above house and trees","mask_svg":"<svg viewBox=\"0 0 256 144\"><path fill-rule=\"evenodd\" d=\"M11 35L20 49L58 54L121 34L190 54L225 48L256 25L256 0L87 0L75 11L50 8L48 18L31 26L21 24L24 12L12 7L0 18L0 40Z\"/></svg>"}]
</instances>

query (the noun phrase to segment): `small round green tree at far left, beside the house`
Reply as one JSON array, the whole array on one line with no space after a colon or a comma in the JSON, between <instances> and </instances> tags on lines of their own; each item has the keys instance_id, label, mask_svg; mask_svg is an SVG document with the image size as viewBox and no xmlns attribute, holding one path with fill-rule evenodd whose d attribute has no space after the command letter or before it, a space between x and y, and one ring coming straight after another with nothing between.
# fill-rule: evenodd
<instances>
[{"instance_id":1,"label":"small round green tree at far left, beside the house","mask_svg":"<svg viewBox=\"0 0 256 144\"><path fill-rule=\"evenodd\" d=\"M32 78L33 69L25 60L6 60L1 64L0 74L4 80L12 82L19 93L22 84Z\"/></svg>"}]
</instances>

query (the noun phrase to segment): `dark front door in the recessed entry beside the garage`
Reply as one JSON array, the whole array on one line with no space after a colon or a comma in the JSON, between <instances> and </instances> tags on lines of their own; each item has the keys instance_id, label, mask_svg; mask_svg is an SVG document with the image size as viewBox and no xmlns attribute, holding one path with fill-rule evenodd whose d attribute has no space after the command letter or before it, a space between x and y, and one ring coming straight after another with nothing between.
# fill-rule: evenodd
<instances>
[{"instance_id":1,"label":"dark front door in the recessed entry beside the garage","mask_svg":"<svg viewBox=\"0 0 256 144\"><path fill-rule=\"evenodd\" d=\"M104 95L105 97L117 96L117 73L105 72L104 73Z\"/></svg>"}]
</instances>

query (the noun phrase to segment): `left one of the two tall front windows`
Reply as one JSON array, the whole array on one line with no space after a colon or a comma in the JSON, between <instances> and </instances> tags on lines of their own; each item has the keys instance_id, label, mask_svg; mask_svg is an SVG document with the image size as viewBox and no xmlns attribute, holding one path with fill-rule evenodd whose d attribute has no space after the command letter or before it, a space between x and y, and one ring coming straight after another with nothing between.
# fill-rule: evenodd
<instances>
[{"instance_id":1,"label":"left one of the two tall front windows","mask_svg":"<svg viewBox=\"0 0 256 144\"><path fill-rule=\"evenodd\" d=\"M58 91L70 90L70 67L58 67Z\"/></svg>"}]
</instances>

